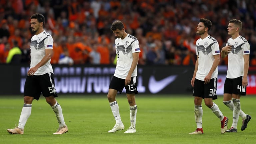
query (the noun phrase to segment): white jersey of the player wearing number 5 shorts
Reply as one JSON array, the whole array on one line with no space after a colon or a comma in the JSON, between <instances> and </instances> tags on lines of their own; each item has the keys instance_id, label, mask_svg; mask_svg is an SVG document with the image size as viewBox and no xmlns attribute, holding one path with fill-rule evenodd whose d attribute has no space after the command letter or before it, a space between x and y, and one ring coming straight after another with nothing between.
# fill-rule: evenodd
<instances>
[{"instance_id":1,"label":"white jersey of the player wearing number 5 shorts","mask_svg":"<svg viewBox=\"0 0 256 144\"><path fill-rule=\"evenodd\" d=\"M52 36L46 31L43 31L38 35L34 35L31 38L31 43L30 43L30 50L31 50L30 68L35 67L45 56L45 49L52 49L52 46L53 46ZM34 75L43 75L47 72L53 73L53 69L50 62L51 62L51 59L45 65L38 68L38 70L34 73Z\"/></svg>"}]
</instances>

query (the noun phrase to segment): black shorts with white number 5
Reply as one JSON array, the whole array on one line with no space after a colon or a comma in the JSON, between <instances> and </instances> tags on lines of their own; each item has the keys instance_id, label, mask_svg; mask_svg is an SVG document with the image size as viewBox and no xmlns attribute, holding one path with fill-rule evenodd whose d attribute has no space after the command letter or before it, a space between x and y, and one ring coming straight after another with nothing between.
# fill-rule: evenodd
<instances>
[{"instance_id":1,"label":"black shorts with white number 5","mask_svg":"<svg viewBox=\"0 0 256 144\"><path fill-rule=\"evenodd\" d=\"M38 100L41 93L44 97L57 97L54 85L53 73L45 73L43 75L27 76L24 86L24 96L32 96Z\"/></svg>"}]
</instances>

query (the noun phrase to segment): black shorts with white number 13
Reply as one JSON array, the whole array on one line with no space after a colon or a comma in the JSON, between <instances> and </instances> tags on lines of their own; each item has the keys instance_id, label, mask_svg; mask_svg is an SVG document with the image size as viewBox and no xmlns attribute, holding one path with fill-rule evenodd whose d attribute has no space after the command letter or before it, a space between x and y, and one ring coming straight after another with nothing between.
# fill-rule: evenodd
<instances>
[{"instance_id":1,"label":"black shorts with white number 13","mask_svg":"<svg viewBox=\"0 0 256 144\"><path fill-rule=\"evenodd\" d=\"M138 94L138 90L137 90L137 83L138 82L137 81L138 81L138 77L137 76L132 76L131 84L125 85L125 79L113 76L111 81L110 81L109 88L115 89L115 90L119 91L119 93L122 93L122 91L125 87L126 93Z\"/></svg>"}]
</instances>

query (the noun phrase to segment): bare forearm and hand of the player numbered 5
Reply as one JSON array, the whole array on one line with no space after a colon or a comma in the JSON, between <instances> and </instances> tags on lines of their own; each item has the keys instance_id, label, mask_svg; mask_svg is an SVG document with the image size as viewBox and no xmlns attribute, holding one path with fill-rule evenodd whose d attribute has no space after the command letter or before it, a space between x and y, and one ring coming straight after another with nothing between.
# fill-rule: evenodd
<instances>
[{"instance_id":1,"label":"bare forearm and hand of the player numbered 5","mask_svg":"<svg viewBox=\"0 0 256 144\"><path fill-rule=\"evenodd\" d=\"M45 49L45 56L43 59L33 68L28 70L28 75L32 76L34 73L43 65L45 65L52 57L53 50L52 49Z\"/></svg>"}]
</instances>

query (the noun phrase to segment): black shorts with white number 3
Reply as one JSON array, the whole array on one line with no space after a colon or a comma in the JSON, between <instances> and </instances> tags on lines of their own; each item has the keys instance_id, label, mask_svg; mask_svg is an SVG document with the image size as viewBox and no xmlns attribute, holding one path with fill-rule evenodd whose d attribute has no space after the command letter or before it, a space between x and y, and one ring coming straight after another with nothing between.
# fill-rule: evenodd
<instances>
[{"instance_id":1,"label":"black shorts with white number 3","mask_svg":"<svg viewBox=\"0 0 256 144\"><path fill-rule=\"evenodd\" d=\"M203 80L195 79L193 96L198 96L204 98L217 99L216 90L217 90L218 79L216 77L212 78L208 84L204 84Z\"/></svg>"}]
</instances>

